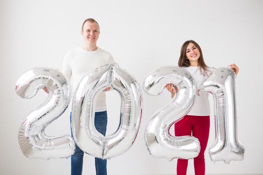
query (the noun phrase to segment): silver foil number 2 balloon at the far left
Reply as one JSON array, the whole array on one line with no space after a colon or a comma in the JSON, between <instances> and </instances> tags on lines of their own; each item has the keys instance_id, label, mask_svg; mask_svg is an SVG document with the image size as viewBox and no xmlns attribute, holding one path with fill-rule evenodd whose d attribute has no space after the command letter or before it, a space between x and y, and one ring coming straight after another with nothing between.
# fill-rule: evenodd
<instances>
[{"instance_id":1,"label":"silver foil number 2 balloon at the far left","mask_svg":"<svg viewBox=\"0 0 263 175\"><path fill-rule=\"evenodd\" d=\"M70 102L70 86L56 69L32 68L16 82L16 92L22 98L32 98L39 89L47 87L48 98L23 120L18 140L24 155L29 158L62 158L74 153L75 142L70 135L48 136L45 128L57 119Z\"/></svg>"}]
</instances>

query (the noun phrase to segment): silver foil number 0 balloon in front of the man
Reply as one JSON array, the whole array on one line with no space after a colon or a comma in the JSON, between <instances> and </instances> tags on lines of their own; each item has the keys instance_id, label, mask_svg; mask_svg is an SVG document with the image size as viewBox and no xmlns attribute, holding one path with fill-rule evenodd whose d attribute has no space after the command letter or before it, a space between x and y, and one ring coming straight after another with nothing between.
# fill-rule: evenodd
<instances>
[{"instance_id":1,"label":"silver foil number 0 balloon in front of the man","mask_svg":"<svg viewBox=\"0 0 263 175\"><path fill-rule=\"evenodd\" d=\"M121 96L120 124L104 136L94 125L97 95L111 86ZM117 63L106 64L88 73L80 81L72 104L72 131L77 145L99 158L122 154L133 144L142 115L142 94L136 79Z\"/></svg>"}]
</instances>

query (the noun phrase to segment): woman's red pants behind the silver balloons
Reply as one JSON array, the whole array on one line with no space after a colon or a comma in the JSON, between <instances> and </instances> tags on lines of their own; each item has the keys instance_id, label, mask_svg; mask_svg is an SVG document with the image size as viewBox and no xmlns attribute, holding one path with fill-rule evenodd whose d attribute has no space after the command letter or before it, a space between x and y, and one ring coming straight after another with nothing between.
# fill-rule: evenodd
<instances>
[{"instance_id":1,"label":"woman's red pants behind the silver balloons","mask_svg":"<svg viewBox=\"0 0 263 175\"><path fill-rule=\"evenodd\" d=\"M181 120L174 124L175 136L192 135L200 141L200 152L197 157L194 158L194 172L197 175L204 175L205 162L204 162L204 150L207 145L209 136L210 118L208 116L194 116L185 115ZM177 160L177 174L185 175L187 170L188 160Z\"/></svg>"}]
</instances>

